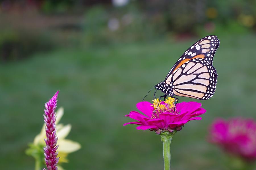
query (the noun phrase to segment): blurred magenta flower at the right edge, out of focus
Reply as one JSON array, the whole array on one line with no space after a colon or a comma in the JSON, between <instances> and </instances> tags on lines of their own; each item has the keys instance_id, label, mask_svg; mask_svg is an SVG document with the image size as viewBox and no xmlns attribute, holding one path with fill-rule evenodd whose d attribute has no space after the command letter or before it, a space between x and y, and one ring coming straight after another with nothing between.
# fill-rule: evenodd
<instances>
[{"instance_id":1,"label":"blurred magenta flower at the right edge, out of focus","mask_svg":"<svg viewBox=\"0 0 256 170\"><path fill-rule=\"evenodd\" d=\"M256 160L256 122L252 119L216 119L210 126L209 140L246 161Z\"/></svg>"}]
</instances>

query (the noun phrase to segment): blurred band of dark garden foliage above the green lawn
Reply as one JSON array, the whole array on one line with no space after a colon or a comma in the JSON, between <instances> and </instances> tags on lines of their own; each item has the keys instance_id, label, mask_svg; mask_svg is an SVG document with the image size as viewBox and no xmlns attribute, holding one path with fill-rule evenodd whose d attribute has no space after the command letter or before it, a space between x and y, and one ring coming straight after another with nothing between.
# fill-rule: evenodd
<instances>
[{"instance_id":1,"label":"blurred band of dark garden foliage above the green lawn","mask_svg":"<svg viewBox=\"0 0 256 170\"><path fill-rule=\"evenodd\" d=\"M110 0L22 2L1 2L0 12L4 15L0 21L17 12L25 16L18 21L9 18L8 30L5 24L0 26L2 61L26 58L34 51L61 46L256 31L256 1L253 0L134 0L119 7L111 5ZM32 21L28 22L26 13L35 15L34 25L28 24ZM40 25L40 20L44 25Z\"/></svg>"}]
</instances>

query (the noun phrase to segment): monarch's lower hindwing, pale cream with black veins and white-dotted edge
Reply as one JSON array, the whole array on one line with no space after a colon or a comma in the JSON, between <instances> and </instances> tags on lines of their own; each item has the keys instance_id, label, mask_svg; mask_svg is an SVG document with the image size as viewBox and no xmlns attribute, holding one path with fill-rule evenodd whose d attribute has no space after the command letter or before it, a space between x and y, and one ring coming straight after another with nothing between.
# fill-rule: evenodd
<instances>
[{"instance_id":1,"label":"monarch's lower hindwing, pale cream with black veins and white-dotted edge","mask_svg":"<svg viewBox=\"0 0 256 170\"><path fill-rule=\"evenodd\" d=\"M215 92L217 77L215 68L206 59L194 58L170 74L165 83L171 85L176 96L207 100Z\"/></svg>"}]
</instances>

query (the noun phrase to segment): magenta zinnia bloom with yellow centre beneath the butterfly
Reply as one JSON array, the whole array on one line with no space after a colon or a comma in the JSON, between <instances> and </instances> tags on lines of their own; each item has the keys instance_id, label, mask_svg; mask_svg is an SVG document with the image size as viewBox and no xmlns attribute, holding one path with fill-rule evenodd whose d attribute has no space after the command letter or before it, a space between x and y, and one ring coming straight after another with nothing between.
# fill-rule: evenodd
<instances>
[{"instance_id":1,"label":"magenta zinnia bloom with yellow centre beneath the butterfly","mask_svg":"<svg viewBox=\"0 0 256 170\"><path fill-rule=\"evenodd\" d=\"M169 101L168 101L169 100ZM131 111L130 114L126 115L137 121L125 123L139 125L137 129L150 129L156 131L157 134L163 131L181 130L181 126L185 125L191 120L200 120L201 117L196 117L206 112L205 109L201 108L201 103L197 102L182 102L176 104L174 107L173 101L170 97L165 102L159 100L153 100L153 105L150 102L139 102L137 108L143 114Z\"/></svg>"}]
</instances>

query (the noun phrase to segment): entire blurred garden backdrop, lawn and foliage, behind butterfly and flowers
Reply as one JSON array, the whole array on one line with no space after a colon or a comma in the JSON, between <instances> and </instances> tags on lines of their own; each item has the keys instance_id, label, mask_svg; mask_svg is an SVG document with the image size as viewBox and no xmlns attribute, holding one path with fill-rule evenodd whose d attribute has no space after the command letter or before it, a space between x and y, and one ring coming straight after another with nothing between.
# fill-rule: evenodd
<instances>
[{"instance_id":1,"label":"entire blurred garden backdrop, lawn and foliage, behind butterfly and flowers","mask_svg":"<svg viewBox=\"0 0 256 170\"><path fill-rule=\"evenodd\" d=\"M177 170L228 169L207 142L208 126L216 117L256 118L255 32L254 0L0 1L1 167L34 168L24 151L40 133L44 103L60 90L61 123L71 123L67 138L82 145L62 167L163 169L160 136L123 127L131 121L124 115L188 47L213 34L216 93L194 100L207 113L174 136L171 161Z\"/></svg>"}]
</instances>

